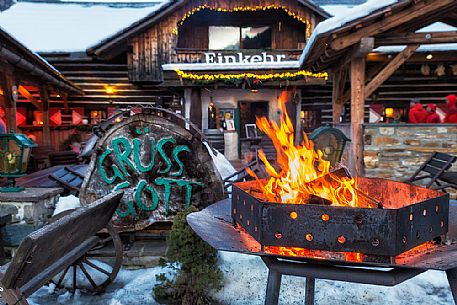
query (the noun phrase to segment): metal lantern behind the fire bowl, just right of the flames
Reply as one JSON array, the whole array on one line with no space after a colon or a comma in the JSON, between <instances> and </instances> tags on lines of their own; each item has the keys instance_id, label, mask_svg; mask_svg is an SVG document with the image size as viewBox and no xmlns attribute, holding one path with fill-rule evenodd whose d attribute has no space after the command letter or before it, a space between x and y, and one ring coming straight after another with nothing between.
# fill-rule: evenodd
<instances>
[{"instance_id":1,"label":"metal lantern behind the fire bowl, just right of the flames","mask_svg":"<svg viewBox=\"0 0 457 305\"><path fill-rule=\"evenodd\" d=\"M314 142L316 150L322 151L322 157L330 161L332 166L341 161L346 142L351 141L341 130L328 125L314 130L309 139Z\"/></svg>"}]
</instances>

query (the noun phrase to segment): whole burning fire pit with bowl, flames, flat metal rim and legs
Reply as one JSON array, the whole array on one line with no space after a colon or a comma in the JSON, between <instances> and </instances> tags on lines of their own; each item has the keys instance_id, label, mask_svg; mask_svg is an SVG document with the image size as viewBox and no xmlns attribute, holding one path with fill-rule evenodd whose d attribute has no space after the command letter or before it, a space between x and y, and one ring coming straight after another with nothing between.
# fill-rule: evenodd
<instances>
[{"instance_id":1,"label":"whole burning fire pit with bowl, flames, flat metal rim and legs","mask_svg":"<svg viewBox=\"0 0 457 305\"><path fill-rule=\"evenodd\" d=\"M450 218L449 196L330 169L306 135L295 145L279 102L280 125L257 119L277 153L270 163L259 152L268 177L248 170L255 181L236 183L231 200L190 214L192 229L218 250L262 257L266 305L278 304L283 274L307 278L305 304L312 305L315 278L395 286L428 269L446 271L457 300L457 206Z\"/></svg>"}]
</instances>

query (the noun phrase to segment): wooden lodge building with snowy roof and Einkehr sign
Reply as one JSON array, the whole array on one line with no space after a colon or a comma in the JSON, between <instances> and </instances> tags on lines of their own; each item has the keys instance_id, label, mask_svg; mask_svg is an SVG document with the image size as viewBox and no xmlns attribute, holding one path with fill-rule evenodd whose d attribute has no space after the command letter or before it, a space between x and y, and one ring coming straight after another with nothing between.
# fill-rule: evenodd
<instances>
[{"instance_id":1,"label":"wooden lodge building with snowy roof and Einkehr sign","mask_svg":"<svg viewBox=\"0 0 457 305\"><path fill-rule=\"evenodd\" d=\"M351 122L349 69L343 74L335 73L341 69L337 69L338 61L333 60L344 59L347 49L333 53L316 45L331 42L332 35L339 35L339 31L363 31L364 18L382 23L378 11L364 8L364 2L19 0L0 12L0 26L38 52L82 91L53 89L50 94L50 141L56 149L62 149L61 143L69 133L90 131L92 124L121 108L149 104L182 114L205 130L217 148L225 149L229 159L242 159L250 147L262 141L252 128L255 116L278 118L278 99L288 101L288 112L295 120L297 133L312 131L326 123ZM398 2L405 7L413 5ZM384 15L388 15L390 6L384 8L381 3L379 10L383 9L387 10ZM326 34L316 33L314 29L319 23L334 22L324 21L332 15L340 23ZM30 27L33 24L33 30L27 24ZM421 17L407 25L409 31L422 31L423 35L457 30L451 12ZM388 41L387 33L384 37L380 35L385 44L375 42L366 55L367 80L402 52L401 47ZM314 41L320 35L327 35L327 40ZM309 42L308 52L316 55L300 65L299 57ZM456 93L456 52L453 44L425 44L418 48L376 90L367 94L363 123L379 121L386 109L399 115L400 122L407 122L409 102L413 98L436 103L439 109L445 96ZM332 61L327 62L327 58ZM347 60L343 63L348 67ZM330 76L327 81L325 72ZM334 99L335 77L345 79L344 83L339 82L342 85L338 90L344 91L344 101L339 104ZM39 89L32 86L27 89L29 94L19 92L17 99L18 113L25 116L19 128L25 133L40 134L43 127L36 119L37 115L40 118L40 109L35 105L40 103ZM404 153L403 142L400 145L389 135L379 134L380 130L392 132L383 127L384 122L365 128L374 129L368 133L379 138L373 139L364 150L367 174L402 177L437 147L433 139L422 140L418 145L413 141L417 139L409 139L416 151ZM349 125L343 128L350 134ZM224 131L220 132L221 129ZM452 136L442 137L442 143L438 144L441 151L457 149L450 144L455 142ZM363 139L368 138L367 135ZM37 140L43 144L40 137ZM391 150L381 153L377 148L380 146L389 146ZM404 164L393 164L395 158L405 158L401 161ZM400 170L392 174L389 169L392 166Z\"/></svg>"}]
</instances>

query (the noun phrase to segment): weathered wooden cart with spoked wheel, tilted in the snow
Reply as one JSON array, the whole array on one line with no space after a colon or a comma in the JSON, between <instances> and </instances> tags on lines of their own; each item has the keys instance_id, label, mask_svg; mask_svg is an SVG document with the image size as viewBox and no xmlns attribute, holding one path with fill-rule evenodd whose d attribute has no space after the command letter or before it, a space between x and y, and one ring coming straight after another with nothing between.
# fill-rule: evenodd
<instances>
[{"instance_id":1,"label":"weathered wooden cart with spoked wheel, tilted in the snow","mask_svg":"<svg viewBox=\"0 0 457 305\"><path fill-rule=\"evenodd\" d=\"M0 272L0 295L8 305L28 305L27 297L59 275L59 286L67 271L73 266L73 291L77 267L92 285L92 291L102 292L111 283L122 262L122 243L110 225L122 192L109 194L93 204L83 207L28 235L19 245L12 261ZM112 270L89 261L89 253L104 240L97 235L106 228L114 241L116 261ZM119 245L121 248L119 248ZM120 249L120 251L118 251ZM95 283L85 266L90 266L106 275L103 283Z\"/></svg>"}]
</instances>

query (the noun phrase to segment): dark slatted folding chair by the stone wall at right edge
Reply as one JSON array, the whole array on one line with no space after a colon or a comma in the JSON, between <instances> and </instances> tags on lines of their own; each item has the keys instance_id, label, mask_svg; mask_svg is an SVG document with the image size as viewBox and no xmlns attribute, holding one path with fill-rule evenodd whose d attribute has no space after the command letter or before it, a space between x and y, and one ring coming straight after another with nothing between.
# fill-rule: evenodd
<instances>
[{"instance_id":1,"label":"dark slatted folding chair by the stone wall at right edge","mask_svg":"<svg viewBox=\"0 0 457 305\"><path fill-rule=\"evenodd\" d=\"M425 184L427 188L431 187L433 183L438 186L438 189L443 189L442 180L443 174L451 168L452 164L457 160L457 157L445 153L435 152L432 156L423 163L414 175L408 179L408 182L417 182L424 179L429 179Z\"/></svg>"}]
</instances>

